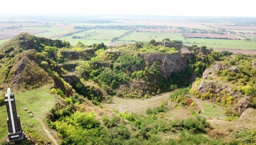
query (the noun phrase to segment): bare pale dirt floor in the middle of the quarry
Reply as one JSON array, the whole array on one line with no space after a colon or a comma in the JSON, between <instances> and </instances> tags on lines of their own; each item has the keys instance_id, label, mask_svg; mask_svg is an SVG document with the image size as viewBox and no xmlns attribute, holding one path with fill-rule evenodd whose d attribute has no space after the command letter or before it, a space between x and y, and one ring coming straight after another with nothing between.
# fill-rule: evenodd
<instances>
[{"instance_id":1,"label":"bare pale dirt floor in the middle of the quarry","mask_svg":"<svg viewBox=\"0 0 256 145\"><path fill-rule=\"evenodd\" d=\"M144 114L148 108L158 107L159 102L164 102L169 100L169 96L172 92L162 93L161 95L153 96L149 99L124 99L113 97L112 104L103 104L104 108L109 108L111 110L116 109L119 112L135 112Z\"/></svg>"}]
</instances>

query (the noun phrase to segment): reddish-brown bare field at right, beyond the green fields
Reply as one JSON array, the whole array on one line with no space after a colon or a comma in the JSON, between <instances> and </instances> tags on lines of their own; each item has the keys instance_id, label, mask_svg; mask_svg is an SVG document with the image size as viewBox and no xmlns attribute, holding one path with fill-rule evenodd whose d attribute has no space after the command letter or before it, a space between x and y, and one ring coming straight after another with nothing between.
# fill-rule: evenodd
<instances>
[{"instance_id":1,"label":"reddish-brown bare field at right, beyond the green fields","mask_svg":"<svg viewBox=\"0 0 256 145\"><path fill-rule=\"evenodd\" d=\"M201 37L201 38L228 38L228 39L234 39L234 40L244 40L245 38L239 37L237 35L221 35L221 34L210 34L210 33L184 33L187 38L195 38L195 37Z\"/></svg>"}]
</instances>

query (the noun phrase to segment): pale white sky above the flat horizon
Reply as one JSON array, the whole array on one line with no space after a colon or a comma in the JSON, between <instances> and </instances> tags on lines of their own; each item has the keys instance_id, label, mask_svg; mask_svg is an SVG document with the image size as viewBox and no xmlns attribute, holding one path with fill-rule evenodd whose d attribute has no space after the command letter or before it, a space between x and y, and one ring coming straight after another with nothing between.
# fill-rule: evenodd
<instances>
[{"instance_id":1,"label":"pale white sky above the flat horizon","mask_svg":"<svg viewBox=\"0 0 256 145\"><path fill-rule=\"evenodd\" d=\"M8 14L256 17L256 0L2 0Z\"/></svg>"}]
</instances>

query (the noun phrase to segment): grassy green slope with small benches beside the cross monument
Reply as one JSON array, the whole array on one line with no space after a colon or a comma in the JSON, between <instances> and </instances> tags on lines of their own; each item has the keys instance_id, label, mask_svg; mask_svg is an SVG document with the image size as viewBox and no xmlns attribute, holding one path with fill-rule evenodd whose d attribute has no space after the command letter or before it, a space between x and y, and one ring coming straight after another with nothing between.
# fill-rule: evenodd
<instances>
[{"instance_id":1,"label":"grassy green slope with small benches beside the cross monument","mask_svg":"<svg viewBox=\"0 0 256 145\"><path fill-rule=\"evenodd\" d=\"M44 140L45 136L42 129L41 121L44 119L46 112L51 109L54 104L54 96L49 93L52 85L46 85L42 88L30 90L26 92L14 92L17 114L20 117L22 129L25 133L29 133L35 139ZM34 114L31 118L29 114L23 110L27 107ZM7 127L7 111L6 106L0 106L0 140L8 134ZM38 133L40 132L40 133ZM42 133L42 134L41 134Z\"/></svg>"}]
</instances>

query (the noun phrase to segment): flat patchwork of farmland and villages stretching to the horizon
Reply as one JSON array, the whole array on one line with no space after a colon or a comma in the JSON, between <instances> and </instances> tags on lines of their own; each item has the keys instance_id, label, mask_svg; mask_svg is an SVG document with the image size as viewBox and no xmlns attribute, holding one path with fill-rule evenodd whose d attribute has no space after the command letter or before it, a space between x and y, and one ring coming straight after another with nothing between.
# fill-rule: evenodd
<instances>
[{"instance_id":1,"label":"flat patchwork of farmland and villages stretching to the horizon","mask_svg":"<svg viewBox=\"0 0 256 145\"><path fill-rule=\"evenodd\" d=\"M16 19L17 22L23 20ZM78 41L120 46L135 42L182 40L185 45L207 46L208 48L256 50L256 30L253 26L235 25L223 21L221 24L194 22L143 20L114 20L111 23L75 23L61 21L37 21L32 23L0 23L0 45L20 32L38 37L66 40L71 45ZM205 20L207 21L207 20ZM214 39L212 39L214 38Z\"/></svg>"}]
</instances>

